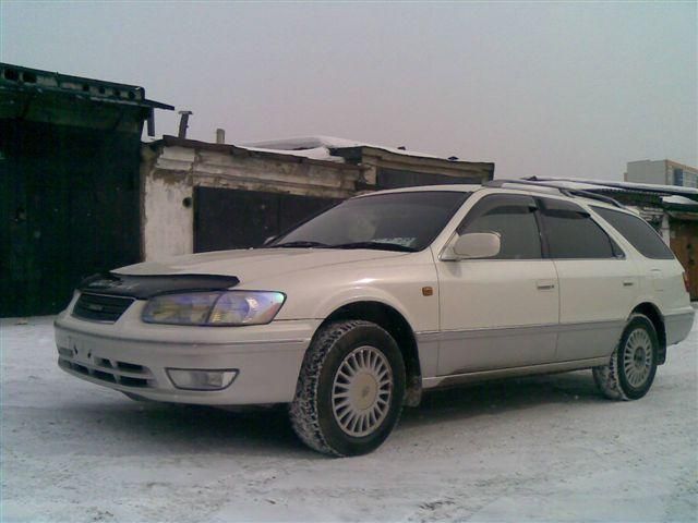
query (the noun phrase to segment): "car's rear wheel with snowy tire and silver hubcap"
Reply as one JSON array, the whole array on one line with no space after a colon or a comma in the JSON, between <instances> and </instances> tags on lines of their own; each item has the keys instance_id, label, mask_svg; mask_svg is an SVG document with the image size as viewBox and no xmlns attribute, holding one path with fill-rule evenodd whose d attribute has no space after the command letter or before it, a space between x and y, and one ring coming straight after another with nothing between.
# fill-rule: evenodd
<instances>
[{"instance_id":1,"label":"car's rear wheel with snowy tire and silver hubcap","mask_svg":"<svg viewBox=\"0 0 698 523\"><path fill-rule=\"evenodd\" d=\"M597 386L611 400L638 400L650 390L657 374L659 341L652 321L630 316L609 365L594 367Z\"/></svg>"}]
</instances>

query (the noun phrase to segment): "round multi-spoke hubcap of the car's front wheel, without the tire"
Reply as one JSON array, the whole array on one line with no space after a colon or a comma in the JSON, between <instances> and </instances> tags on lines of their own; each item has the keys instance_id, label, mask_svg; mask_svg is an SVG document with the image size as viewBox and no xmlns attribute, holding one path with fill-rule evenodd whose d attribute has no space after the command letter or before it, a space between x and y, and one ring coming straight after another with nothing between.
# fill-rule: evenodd
<instances>
[{"instance_id":1,"label":"round multi-spoke hubcap of the car's front wheel, without the tire","mask_svg":"<svg viewBox=\"0 0 698 523\"><path fill-rule=\"evenodd\" d=\"M349 436L368 436L388 414L393 370L374 346L360 346L344 358L332 387L335 421Z\"/></svg>"}]
</instances>

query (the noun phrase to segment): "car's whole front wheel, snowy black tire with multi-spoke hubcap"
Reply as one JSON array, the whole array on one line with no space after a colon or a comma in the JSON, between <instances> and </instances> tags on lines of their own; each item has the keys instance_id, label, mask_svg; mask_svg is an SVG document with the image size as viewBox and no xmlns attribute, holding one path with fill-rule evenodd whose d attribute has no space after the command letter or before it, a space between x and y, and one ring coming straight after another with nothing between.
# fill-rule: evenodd
<instances>
[{"instance_id":1,"label":"car's whole front wheel, snowy black tire with multi-spoke hubcap","mask_svg":"<svg viewBox=\"0 0 698 523\"><path fill-rule=\"evenodd\" d=\"M385 441L402 410L405 362L375 324L333 321L305 353L290 406L293 430L330 455L365 454Z\"/></svg>"}]
</instances>

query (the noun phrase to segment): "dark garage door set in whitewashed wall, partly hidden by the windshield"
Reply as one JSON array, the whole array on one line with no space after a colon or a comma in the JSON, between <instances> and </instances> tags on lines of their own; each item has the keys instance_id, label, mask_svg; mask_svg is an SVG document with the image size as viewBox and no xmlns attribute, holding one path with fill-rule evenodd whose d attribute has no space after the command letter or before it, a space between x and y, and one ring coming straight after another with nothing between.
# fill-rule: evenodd
<instances>
[{"instance_id":1,"label":"dark garage door set in whitewashed wall, partly hidden by the windshield","mask_svg":"<svg viewBox=\"0 0 698 523\"><path fill-rule=\"evenodd\" d=\"M195 187L194 252L257 247L340 198Z\"/></svg>"}]
</instances>

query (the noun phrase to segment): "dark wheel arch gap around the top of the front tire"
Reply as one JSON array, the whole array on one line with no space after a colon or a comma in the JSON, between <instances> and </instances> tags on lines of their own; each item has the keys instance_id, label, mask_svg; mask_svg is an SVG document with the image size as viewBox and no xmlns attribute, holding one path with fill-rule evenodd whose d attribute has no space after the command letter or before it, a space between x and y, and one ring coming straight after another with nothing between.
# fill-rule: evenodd
<instances>
[{"instance_id":1,"label":"dark wheel arch gap around the top of the front tire","mask_svg":"<svg viewBox=\"0 0 698 523\"><path fill-rule=\"evenodd\" d=\"M385 329L397 342L405 361L405 404L417 406L422 394L422 370L414 331L405 316L383 302L357 301L347 303L330 313L322 325L329 321L362 319ZM322 327L321 325L321 327Z\"/></svg>"}]
</instances>

